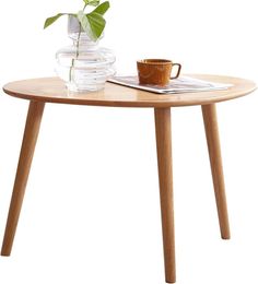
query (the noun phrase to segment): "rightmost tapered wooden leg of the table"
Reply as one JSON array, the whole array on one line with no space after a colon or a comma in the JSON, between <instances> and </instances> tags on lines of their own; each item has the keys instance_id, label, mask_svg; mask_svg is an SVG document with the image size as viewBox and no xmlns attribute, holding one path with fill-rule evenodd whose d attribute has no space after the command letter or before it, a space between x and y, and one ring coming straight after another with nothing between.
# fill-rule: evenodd
<instances>
[{"instance_id":1,"label":"rightmost tapered wooden leg of the table","mask_svg":"<svg viewBox=\"0 0 258 284\"><path fill-rule=\"evenodd\" d=\"M202 115L206 128L207 143L210 154L210 164L215 192L218 215L221 227L221 237L223 239L230 239L231 233L227 216L226 194L215 105L212 104L202 106Z\"/></svg>"}]
</instances>

